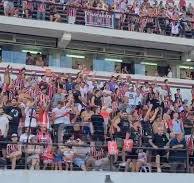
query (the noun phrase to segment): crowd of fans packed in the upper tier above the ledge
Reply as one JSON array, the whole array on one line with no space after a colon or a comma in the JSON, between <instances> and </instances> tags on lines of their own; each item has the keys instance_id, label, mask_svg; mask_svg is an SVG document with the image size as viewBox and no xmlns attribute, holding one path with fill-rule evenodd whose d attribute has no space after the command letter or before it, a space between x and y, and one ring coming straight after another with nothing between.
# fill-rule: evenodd
<instances>
[{"instance_id":1,"label":"crowd of fans packed in the upper tier above the ledge","mask_svg":"<svg viewBox=\"0 0 194 183\"><path fill-rule=\"evenodd\" d=\"M4 15L162 35L194 37L186 0L4 0Z\"/></svg>"}]
</instances>

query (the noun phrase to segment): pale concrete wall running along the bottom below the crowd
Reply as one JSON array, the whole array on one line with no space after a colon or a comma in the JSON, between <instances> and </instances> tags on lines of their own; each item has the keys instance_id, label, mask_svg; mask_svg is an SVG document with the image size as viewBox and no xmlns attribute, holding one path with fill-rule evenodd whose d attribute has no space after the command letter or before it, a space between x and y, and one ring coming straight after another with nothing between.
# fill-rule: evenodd
<instances>
[{"instance_id":1,"label":"pale concrete wall running along the bottom below the crowd","mask_svg":"<svg viewBox=\"0 0 194 183\"><path fill-rule=\"evenodd\" d=\"M108 173L66 171L0 171L1 183L104 183L110 175L113 183L184 183L193 182L193 174Z\"/></svg>"}]
</instances>

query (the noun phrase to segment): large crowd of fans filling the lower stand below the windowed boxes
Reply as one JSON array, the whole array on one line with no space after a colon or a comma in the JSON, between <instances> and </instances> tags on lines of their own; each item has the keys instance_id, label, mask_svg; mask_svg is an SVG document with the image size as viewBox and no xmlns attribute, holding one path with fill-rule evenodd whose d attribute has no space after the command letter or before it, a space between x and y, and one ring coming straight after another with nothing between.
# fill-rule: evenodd
<instances>
[{"instance_id":1,"label":"large crowd of fans filling the lower stand below the windowed boxes","mask_svg":"<svg viewBox=\"0 0 194 183\"><path fill-rule=\"evenodd\" d=\"M31 74L13 79L8 66L0 82L1 168L185 172L189 160L192 169L194 102L167 79Z\"/></svg>"}]
</instances>

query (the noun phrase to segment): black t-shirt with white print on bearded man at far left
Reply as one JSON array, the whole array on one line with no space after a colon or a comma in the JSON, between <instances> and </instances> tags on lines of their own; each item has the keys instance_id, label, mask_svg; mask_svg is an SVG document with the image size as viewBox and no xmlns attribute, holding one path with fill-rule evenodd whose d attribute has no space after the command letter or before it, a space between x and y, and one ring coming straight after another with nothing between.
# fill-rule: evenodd
<instances>
[{"instance_id":1,"label":"black t-shirt with white print on bearded man at far left","mask_svg":"<svg viewBox=\"0 0 194 183\"><path fill-rule=\"evenodd\" d=\"M15 126L17 127L20 122L20 118L22 117L22 111L19 107L5 107L4 109L5 113L12 117L10 120L9 126Z\"/></svg>"}]
</instances>

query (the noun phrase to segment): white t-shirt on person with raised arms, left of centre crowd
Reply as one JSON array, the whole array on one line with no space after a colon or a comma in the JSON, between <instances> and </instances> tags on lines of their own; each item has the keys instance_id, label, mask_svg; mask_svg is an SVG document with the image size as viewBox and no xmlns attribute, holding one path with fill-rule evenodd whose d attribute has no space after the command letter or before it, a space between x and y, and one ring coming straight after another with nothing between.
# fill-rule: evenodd
<instances>
[{"instance_id":1,"label":"white t-shirt on person with raised arms, left of centre crowd","mask_svg":"<svg viewBox=\"0 0 194 183\"><path fill-rule=\"evenodd\" d=\"M69 109L67 109L66 107L62 107L61 109L56 107L52 110L52 112L55 113L54 124L70 124Z\"/></svg>"}]
</instances>

